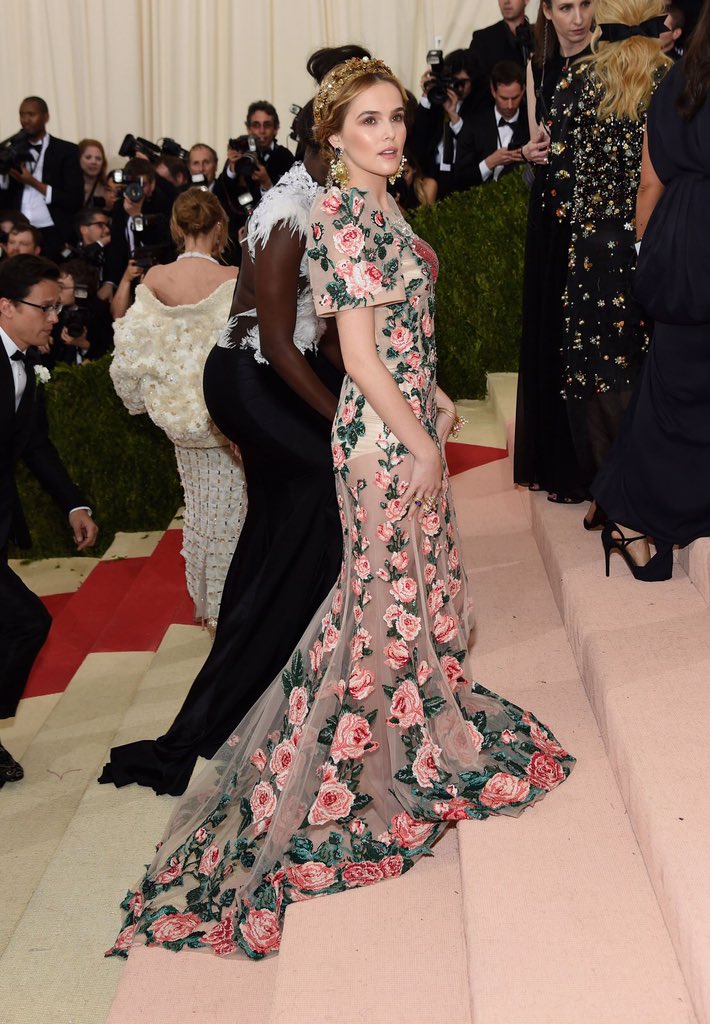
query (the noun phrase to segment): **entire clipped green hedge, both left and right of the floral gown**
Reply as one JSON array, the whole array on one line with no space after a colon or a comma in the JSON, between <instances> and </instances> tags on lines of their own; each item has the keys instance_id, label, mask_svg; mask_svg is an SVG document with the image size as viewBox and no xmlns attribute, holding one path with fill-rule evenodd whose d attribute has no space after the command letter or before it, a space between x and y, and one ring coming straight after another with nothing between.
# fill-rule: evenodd
<instances>
[{"instance_id":1,"label":"entire clipped green hedge, both left and right of the floral gown","mask_svg":"<svg viewBox=\"0 0 710 1024\"><path fill-rule=\"evenodd\" d=\"M412 217L440 259L438 374L452 397L481 398L487 372L517 369L527 197L509 174ZM182 501L172 444L148 416L128 415L110 359L58 367L45 389L52 440L100 527L95 554L117 530L164 528ZM22 464L17 480L31 556L74 554L66 517Z\"/></svg>"}]
</instances>

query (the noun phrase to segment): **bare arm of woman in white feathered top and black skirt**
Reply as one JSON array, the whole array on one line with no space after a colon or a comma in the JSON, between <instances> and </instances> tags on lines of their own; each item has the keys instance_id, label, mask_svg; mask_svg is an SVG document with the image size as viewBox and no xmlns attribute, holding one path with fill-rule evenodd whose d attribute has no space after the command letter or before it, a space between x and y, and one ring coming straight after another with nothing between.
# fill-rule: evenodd
<instances>
[{"instance_id":1,"label":"bare arm of woman in white feathered top and black skirt","mask_svg":"<svg viewBox=\"0 0 710 1024\"><path fill-rule=\"evenodd\" d=\"M303 249L303 239L283 226L272 230L268 242L258 253L255 290L259 340L261 352L273 370L303 401L332 422L338 400L293 343Z\"/></svg>"}]
</instances>

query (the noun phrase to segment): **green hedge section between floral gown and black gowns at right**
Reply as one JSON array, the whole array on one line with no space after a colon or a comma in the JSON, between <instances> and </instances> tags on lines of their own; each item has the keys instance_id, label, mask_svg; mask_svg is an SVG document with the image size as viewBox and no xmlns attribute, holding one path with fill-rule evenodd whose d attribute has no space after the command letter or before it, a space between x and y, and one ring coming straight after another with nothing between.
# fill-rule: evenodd
<instances>
[{"instance_id":1,"label":"green hedge section between floral gown and black gowns at right","mask_svg":"<svg viewBox=\"0 0 710 1024\"><path fill-rule=\"evenodd\" d=\"M528 196L506 174L411 218L438 255L438 379L453 398L483 398L487 373L517 370Z\"/></svg>"}]
</instances>

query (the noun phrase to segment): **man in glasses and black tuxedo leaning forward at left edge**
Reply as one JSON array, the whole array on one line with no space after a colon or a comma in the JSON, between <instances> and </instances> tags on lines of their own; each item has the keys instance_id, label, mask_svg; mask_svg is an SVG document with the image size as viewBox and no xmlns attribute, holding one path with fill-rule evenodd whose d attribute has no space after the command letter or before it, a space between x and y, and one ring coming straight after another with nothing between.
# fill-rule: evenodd
<instances>
[{"instance_id":1,"label":"man in glasses and black tuxedo leaning forward at left edge","mask_svg":"<svg viewBox=\"0 0 710 1024\"><path fill-rule=\"evenodd\" d=\"M48 344L58 313L58 269L41 256L20 255L0 264L0 719L12 718L30 670L47 638L51 616L7 564L10 542L30 546L14 481L17 459L69 516L79 551L90 548L97 527L49 440L29 353ZM23 777L0 743L0 787Z\"/></svg>"}]
</instances>

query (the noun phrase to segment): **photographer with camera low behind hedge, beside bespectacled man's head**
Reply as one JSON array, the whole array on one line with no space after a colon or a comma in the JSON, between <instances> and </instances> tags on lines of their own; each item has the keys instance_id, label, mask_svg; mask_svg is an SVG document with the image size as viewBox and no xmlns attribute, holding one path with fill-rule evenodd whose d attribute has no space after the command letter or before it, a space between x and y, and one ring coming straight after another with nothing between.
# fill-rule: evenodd
<instances>
[{"instance_id":1,"label":"photographer with camera low behind hedge, beside bespectacled man's head","mask_svg":"<svg viewBox=\"0 0 710 1024\"><path fill-rule=\"evenodd\" d=\"M51 348L42 362L81 366L99 359L114 346L111 312L97 294L98 271L86 260L73 259L59 267L58 321L52 328Z\"/></svg>"}]
</instances>

